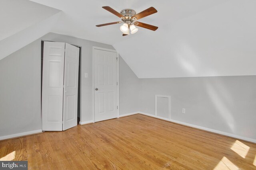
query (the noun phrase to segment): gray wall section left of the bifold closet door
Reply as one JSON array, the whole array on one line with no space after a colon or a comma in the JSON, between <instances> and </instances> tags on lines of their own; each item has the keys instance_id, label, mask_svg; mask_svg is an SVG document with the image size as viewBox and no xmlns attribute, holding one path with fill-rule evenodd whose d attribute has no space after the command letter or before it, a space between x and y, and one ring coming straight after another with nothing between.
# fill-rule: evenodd
<instances>
[{"instance_id":1,"label":"gray wall section left of the bifold closet door","mask_svg":"<svg viewBox=\"0 0 256 170\"><path fill-rule=\"evenodd\" d=\"M0 60L0 136L42 129L41 44Z\"/></svg>"}]
</instances>

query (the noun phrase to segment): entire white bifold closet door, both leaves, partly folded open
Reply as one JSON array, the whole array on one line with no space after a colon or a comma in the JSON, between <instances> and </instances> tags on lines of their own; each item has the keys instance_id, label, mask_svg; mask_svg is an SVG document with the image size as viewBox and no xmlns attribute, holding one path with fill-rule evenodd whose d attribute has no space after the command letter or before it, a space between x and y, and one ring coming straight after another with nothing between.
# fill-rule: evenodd
<instances>
[{"instance_id":1,"label":"entire white bifold closet door, both leaves, partly folded open","mask_svg":"<svg viewBox=\"0 0 256 170\"><path fill-rule=\"evenodd\" d=\"M77 125L79 48L44 42L42 130L62 131Z\"/></svg>"}]
</instances>

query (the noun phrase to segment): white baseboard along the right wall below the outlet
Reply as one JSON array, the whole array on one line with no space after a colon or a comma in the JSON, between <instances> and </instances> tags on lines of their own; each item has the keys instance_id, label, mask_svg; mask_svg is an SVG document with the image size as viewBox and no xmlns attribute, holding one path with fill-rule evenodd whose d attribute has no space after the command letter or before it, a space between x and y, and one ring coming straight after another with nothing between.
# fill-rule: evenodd
<instances>
[{"instance_id":1,"label":"white baseboard along the right wall below the outlet","mask_svg":"<svg viewBox=\"0 0 256 170\"><path fill-rule=\"evenodd\" d=\"M242 137L242 136L235 135L235 134L232 134L232 133L227 133L227 132L223 132L223 131L218 131L218 130L210 129L210 128L207 128L207 127L202 127L202 126L193 125L193 124L190 124L190 123L185 123L185 122L181 122L181 121L176 121L176 120L173 120L173 119L166 119L166 118L163 118L163 117L159 117L159 116L156 116L156 115L151 115L151 114L144 113L144 112L141 112L141 111L139 111L138 113L140 113L140 114L142 114L142 115L147 115L147 116L150 116L150 117L155 117L155 118L158 118L158 119L163 119L163 120L166 120L166 121L178 123L178 124L181 124L181 125L186 125L186 126L189 126L189 127L194 127L194 128L197 128L197 129L202 129L202 130L204 130L204 131L209 131L209 132L213 132L213 133L218 133L218 134L220 134L220 135L225 135L225 136L234 137L234 138L237 138L237 139L242 139L242 140L244 140L244 141L249 141L249 142L256 143L256 139L252 139L252 138L248 138L248 137Z\"/></svg>"}]
</instances>

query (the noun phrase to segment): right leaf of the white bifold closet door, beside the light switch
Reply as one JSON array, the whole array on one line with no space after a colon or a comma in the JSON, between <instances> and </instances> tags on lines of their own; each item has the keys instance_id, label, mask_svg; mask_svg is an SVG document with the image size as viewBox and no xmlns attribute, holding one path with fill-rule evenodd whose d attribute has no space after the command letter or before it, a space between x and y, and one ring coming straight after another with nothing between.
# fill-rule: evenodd
<instances>
[{"instance_id":1,"label":"right leaf of the white bifold closet door, beside the light switch","mask_svg":"<svg viewBox=\"0 0 256 170\"><path fill-rule=\"evenodd\" d=\"M79 48L66 43L63 130L77 125Z\"/></svg>"}]
</instances>

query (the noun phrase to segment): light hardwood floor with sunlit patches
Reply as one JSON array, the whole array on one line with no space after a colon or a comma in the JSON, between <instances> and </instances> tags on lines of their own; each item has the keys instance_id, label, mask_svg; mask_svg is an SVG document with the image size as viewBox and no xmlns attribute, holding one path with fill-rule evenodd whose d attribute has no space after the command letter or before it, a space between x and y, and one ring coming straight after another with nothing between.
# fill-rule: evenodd
<instances>
[{"instance_id":1,"label":"light hardwood floor with sunlit patches","mask_svg":"<svg viewBox=\"0 0 256 170\"><path fill-rule=\"evenodd\" d=\"M28 169L256 169L254 143L140 114L0 141L11 153Z\"/></svg>"}]
</instances>

